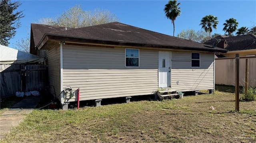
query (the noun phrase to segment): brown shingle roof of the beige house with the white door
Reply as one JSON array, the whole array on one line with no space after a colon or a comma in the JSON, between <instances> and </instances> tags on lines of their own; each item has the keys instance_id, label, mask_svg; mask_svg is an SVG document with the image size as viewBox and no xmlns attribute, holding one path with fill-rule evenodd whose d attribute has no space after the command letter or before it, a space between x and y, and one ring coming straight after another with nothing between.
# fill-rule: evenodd
<instances>
[{"instance_id":1,"label":"brown shingle roof of the beige house with the white door","mask_svg":"<svg viewBox=\"0 0 256 143\"><path fill-rule=\"evenodd\" d=\"M33 36L34 29L32 28ZM37 24L36 27L41 25ZM44 26L46 27L46 26ZM40 28L38 28L40 29ZM42 28L43 29L43 28ZM45 29L44 29L45 30ZM48 30L50 30L48 28ZM58 41L72 41L81 43L97 43L108 45L121 45L121 46L134 46L134 47L151 47L151 48L167 48L167 49L182 49L182 50L195 50L195 51L209 51L221 52L227 51L222 48L213 48L209 45L197 43L194 41L172 37L162 33L149 31L146 29L134 27L131 25L122 24L119 22L112 22L108 24L93 25L88 27L67 29L67 30L52 30L46 31L44 37L36 35L36 46L40 48L44 45L44 41L54 39ZM43 31L44 32L44 31ZM41 33L43 33L41 32ZM38 37L41 37L38 42ZM45 40L44 40L45 39Z\"/></svg>"}]
</instances>

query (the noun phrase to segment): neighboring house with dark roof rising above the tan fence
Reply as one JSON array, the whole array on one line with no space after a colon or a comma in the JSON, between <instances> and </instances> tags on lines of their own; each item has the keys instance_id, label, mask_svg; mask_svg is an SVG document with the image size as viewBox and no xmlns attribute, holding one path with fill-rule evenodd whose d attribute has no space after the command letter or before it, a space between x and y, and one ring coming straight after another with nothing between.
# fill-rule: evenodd
<instances>
[{"instance_id":1,"label":"neighboring house with dark roof rising above the tan fence","mask_svg":"<svg viewBox=\"0 0 256 143\"><path fill-rule=\"evenodd\" d=\"M256 56L256 35L238 35L238 36L224 36L219 35L215 37L220 40L217 47L228 50L225 54L216 55L218 58L222 57L236 57L239 54L240 57L244 56ZM207 41L205 44L211 45L211 41Z\"/></svg>"}]
</instances>

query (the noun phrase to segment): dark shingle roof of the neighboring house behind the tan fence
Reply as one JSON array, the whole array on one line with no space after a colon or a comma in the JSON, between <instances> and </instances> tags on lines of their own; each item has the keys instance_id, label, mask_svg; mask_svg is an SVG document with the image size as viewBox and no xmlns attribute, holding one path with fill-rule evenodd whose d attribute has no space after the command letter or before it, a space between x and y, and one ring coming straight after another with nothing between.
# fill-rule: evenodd
<instances>
[{"instance_id":1,"label":"dark shingle roof of the neighboring house behind the tan fence","mask_svg":"<svg viewBox=\"0 0 256 143\"><path fill-rule=\"evenodd\" d=\"M239 36L222 36L219 35L216 39L221 39L220 43L218 43L218 47L227 49L228 51L240 51L240 50L250 50L256 49L256 35L247 34L247 35L239 35ZM224 45L226 41L227 45ZM211 41L205 42L205 44L211 45Z\"/></svg>"}]
</instances>

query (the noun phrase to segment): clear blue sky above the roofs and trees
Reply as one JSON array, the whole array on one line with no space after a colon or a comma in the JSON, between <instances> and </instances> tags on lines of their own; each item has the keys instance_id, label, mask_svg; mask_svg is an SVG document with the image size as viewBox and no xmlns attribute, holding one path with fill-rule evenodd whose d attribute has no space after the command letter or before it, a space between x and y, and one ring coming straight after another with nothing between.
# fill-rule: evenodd
<instances>
[{"instance_id":1,"label":"clear blue sky above the roofs and trees","mask_svg":"<svg viewBox=\"0 0 256 143\"><path fill-rule=\"evenodd\" d=\"M16 30L16 36L9 42L9 47L15 47L16 41L30 33L30 24L40 18L56 17L75 5L81 5L83 10L100 8L114 13L119 22L173 35L173 25L164 14L164 5L168 0L24 0L18 10L24 10L25 17L20 20L21 27ZM175 21L175 35L182 29L201 29L202 17L212 14L218 17L219 24L213 33L224 34L223 24L229 18L237 20L238 28L256 26L256 0L178 0L181 14Z\"/></svg>"}]
</instances>

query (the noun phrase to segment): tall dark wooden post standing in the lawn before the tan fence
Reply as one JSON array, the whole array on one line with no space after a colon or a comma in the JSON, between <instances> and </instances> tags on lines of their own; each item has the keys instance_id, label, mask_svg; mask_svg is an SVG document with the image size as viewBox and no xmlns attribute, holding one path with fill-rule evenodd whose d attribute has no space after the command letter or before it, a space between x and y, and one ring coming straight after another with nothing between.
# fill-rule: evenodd
<instances>
[{"instance_id":1,"label":"tall dark wooden post standing in the lawn before the tan fence","mask_svg":"<svg viewBox=\"0 0 256 143\"><path fill-rule=\"evenodd\" d=\"M236 54L236 111L239 111L239 54Z\"/></svg>"}]
</instances>

